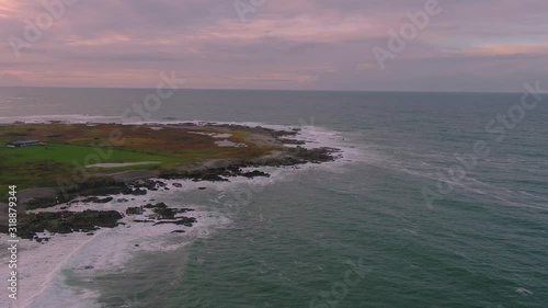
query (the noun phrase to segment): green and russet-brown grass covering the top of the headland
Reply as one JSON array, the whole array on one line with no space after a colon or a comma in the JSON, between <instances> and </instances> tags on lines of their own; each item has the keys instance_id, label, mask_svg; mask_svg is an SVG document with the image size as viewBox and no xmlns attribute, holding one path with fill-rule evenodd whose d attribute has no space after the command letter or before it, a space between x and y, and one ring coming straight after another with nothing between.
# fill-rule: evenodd
<instances>
[{"instance_id":1,"label":"green and russet-brown grass covering the top of the headland","mask_svg":"<svg viewBox=\"0 0 548 308\"><path fill-rule=\"evenodd\" d=\"M113 132L116 136L113 142ZM230 133L228 140L247 147L215 145L218 139L194 133ZM102 124L18 124L0 126L0 197L8 185L55 186L56 179L67 178L78 166L95 163L150 162L124 168L89 168L90 173L119 170L169 169L214 158L253 158L273 147L247 141L251 132L207 127L170 127ZM36 139L45 146L8 148L9 141ZM123 141L119 141L123 140Z\"/></svg>"}]
</instances>

